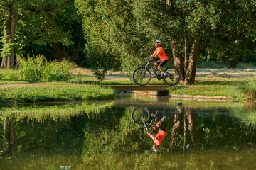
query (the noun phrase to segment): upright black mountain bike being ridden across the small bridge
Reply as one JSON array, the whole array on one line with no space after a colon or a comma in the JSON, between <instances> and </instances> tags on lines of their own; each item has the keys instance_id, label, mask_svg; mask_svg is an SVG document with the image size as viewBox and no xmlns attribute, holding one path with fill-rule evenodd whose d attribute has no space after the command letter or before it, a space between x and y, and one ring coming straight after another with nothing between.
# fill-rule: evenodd
<instances>
[{"instance_id":1,"label":"upright black mountain bike being ridden across the small bridge","mask_svg":"<svg viewBox=\"0 0 256 170\"><path fill-rule=\"evenodd\" d=\"M149 84L149 81L151 80L151 72L149 71L150 68L153 70L156 79L162 79L161 72L159 70L156 71L156 69L154 68L154 64L151 63L149 59L146 59L146 66L137 67L132 72L132 80L134 81L134 84L137 84L139 86ZM166 72L167 77L166 79L163 79L163 81L169 86L174 86L178 84L178 81L181 80L181 72L179 72L176 67L167 67L166 69L164 69L164 72Z\"/></svg>"}]
</instances>

